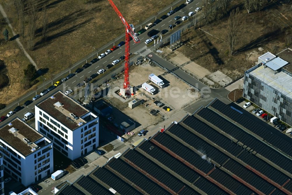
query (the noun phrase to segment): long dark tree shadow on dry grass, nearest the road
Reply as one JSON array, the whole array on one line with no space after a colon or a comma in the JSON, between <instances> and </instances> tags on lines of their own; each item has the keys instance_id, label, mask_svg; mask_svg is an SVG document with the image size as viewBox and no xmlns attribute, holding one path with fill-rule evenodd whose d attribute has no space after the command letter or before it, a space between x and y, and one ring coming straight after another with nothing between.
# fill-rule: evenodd
<instances>
[{"instance_id":1,"label":"long dark tree shadow on dry grass, nearest the road","mask_svg":"<svg viewBox=\"0 0 292 195\"><path fill-rule=\"evenodd\" d=\"M46 40L41 40L39 42L36 42L36 44L34 45L34 49L39 49L41 47L44 47L46 44L52 42L52 40L54 40L57 37L61 37L61 36L67 35L68 33L72 33L73 31L77 30L78 28L86 25L92 19L93 18L89 18L88 20L85 20L84 22L82 22L80 24L77 24L77 25L74 25L70 28L67 28L66 30L63 30L60 33L56 33L55 35L48 36Z\"/></svg>"}]
</instances>

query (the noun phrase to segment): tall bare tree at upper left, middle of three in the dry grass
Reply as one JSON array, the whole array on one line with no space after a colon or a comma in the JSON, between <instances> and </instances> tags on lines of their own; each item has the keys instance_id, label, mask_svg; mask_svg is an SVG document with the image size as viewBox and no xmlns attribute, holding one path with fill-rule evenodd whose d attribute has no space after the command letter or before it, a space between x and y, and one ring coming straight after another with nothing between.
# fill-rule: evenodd
<instances>
[{"instance_id":1,"label":"tall bare tree at upper left, middle of three in the dry grass","mask_svg":"<svg viewBox=\"0 0 292 195\"><path fill-rule=\"evenodd\" d=\"M36 0L28 1L28 12L29 12L29 50L34 49L34 32L36 29Z\"/></svg>"}]
</instances>

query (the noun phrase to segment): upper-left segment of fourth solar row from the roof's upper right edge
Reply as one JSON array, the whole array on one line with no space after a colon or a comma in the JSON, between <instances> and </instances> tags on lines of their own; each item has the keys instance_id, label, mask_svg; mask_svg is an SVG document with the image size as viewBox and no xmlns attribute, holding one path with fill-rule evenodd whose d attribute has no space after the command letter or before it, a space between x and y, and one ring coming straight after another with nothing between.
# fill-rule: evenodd
<instances>
[{"instance_id":1,"label":"upper-left segment of fourth solar row from the roof's upper right edge","mask_svg":"<svg viewBox=\"0 0 292 195\"><path fill-rule=\"evenodd\" d=\"M220 165L225 163L226 160L229 158L227 155L219 152L218 149L212 147L201 138L199 138L197 135L183 128L181 125L173 125L170 129L168 129L168 131L188 143L190 146L206 154L207 157L211 158Z\"/></svg>"}]
</instances>

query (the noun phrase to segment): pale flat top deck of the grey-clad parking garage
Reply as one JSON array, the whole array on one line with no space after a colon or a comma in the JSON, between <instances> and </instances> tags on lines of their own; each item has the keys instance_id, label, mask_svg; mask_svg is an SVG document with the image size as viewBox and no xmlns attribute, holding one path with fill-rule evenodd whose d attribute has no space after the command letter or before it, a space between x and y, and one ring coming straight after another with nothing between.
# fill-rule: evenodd
<instances>
[{"instance_id":1,"label":"pale flat top deck of the grey-clad parking garage","mask_svg":"<svg viewBox=\"0 0 292 195\"><path fill-rule=\"evenodd\" d=\"M260 66L257 69L251 71L249 74L253 75L263 83L278 90L283 95L292 98L292 77L284 72L274 74L274 71L270 68L264 68ZM291 93L290 93L291 92Z\"/></svg>"}]
</instances>

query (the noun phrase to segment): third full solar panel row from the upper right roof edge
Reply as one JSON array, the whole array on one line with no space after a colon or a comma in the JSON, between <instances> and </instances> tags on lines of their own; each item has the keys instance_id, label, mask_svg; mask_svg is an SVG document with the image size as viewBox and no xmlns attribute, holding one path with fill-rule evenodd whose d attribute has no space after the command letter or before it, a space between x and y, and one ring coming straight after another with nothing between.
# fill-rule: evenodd
<instances>
[{"instance_id":1,"label":"third full solar panel row from the upper right roof edge","mask_svg":"<svg viewBox=\"0 0 292 195\"><path fill-rule=\"evenodd\" d=\"M207 137L208 139L210 139L211 141L213 141L214 143L221 146L222 148L224 148L225 150L227 150L228 152L230 152L231 154L235 156L239 154L238 151L242 151L242 148L240 146L238 146L234 142L231 142L230 139L228 139L227 137L220 134L215 129L209 127L207 124L205 124L204 122L200 121L199 119L193 116L188 116L183 121L183 124L189 126L190 128L204 135L205 137ZM179 125L179 124L176 124L176 125ZM276 168L272 167L265 161L261 160L260 158L246 151L242 152L239 156L237 156L237 158L239 158L246 164L251 165L251 167L258 170L259 172L266 175L267 177L269 177L274 182L277 182L280 185L284 184L289 179L289 177L284 175L282 172L280 172Z\"/></svg>"}]
</instances>

